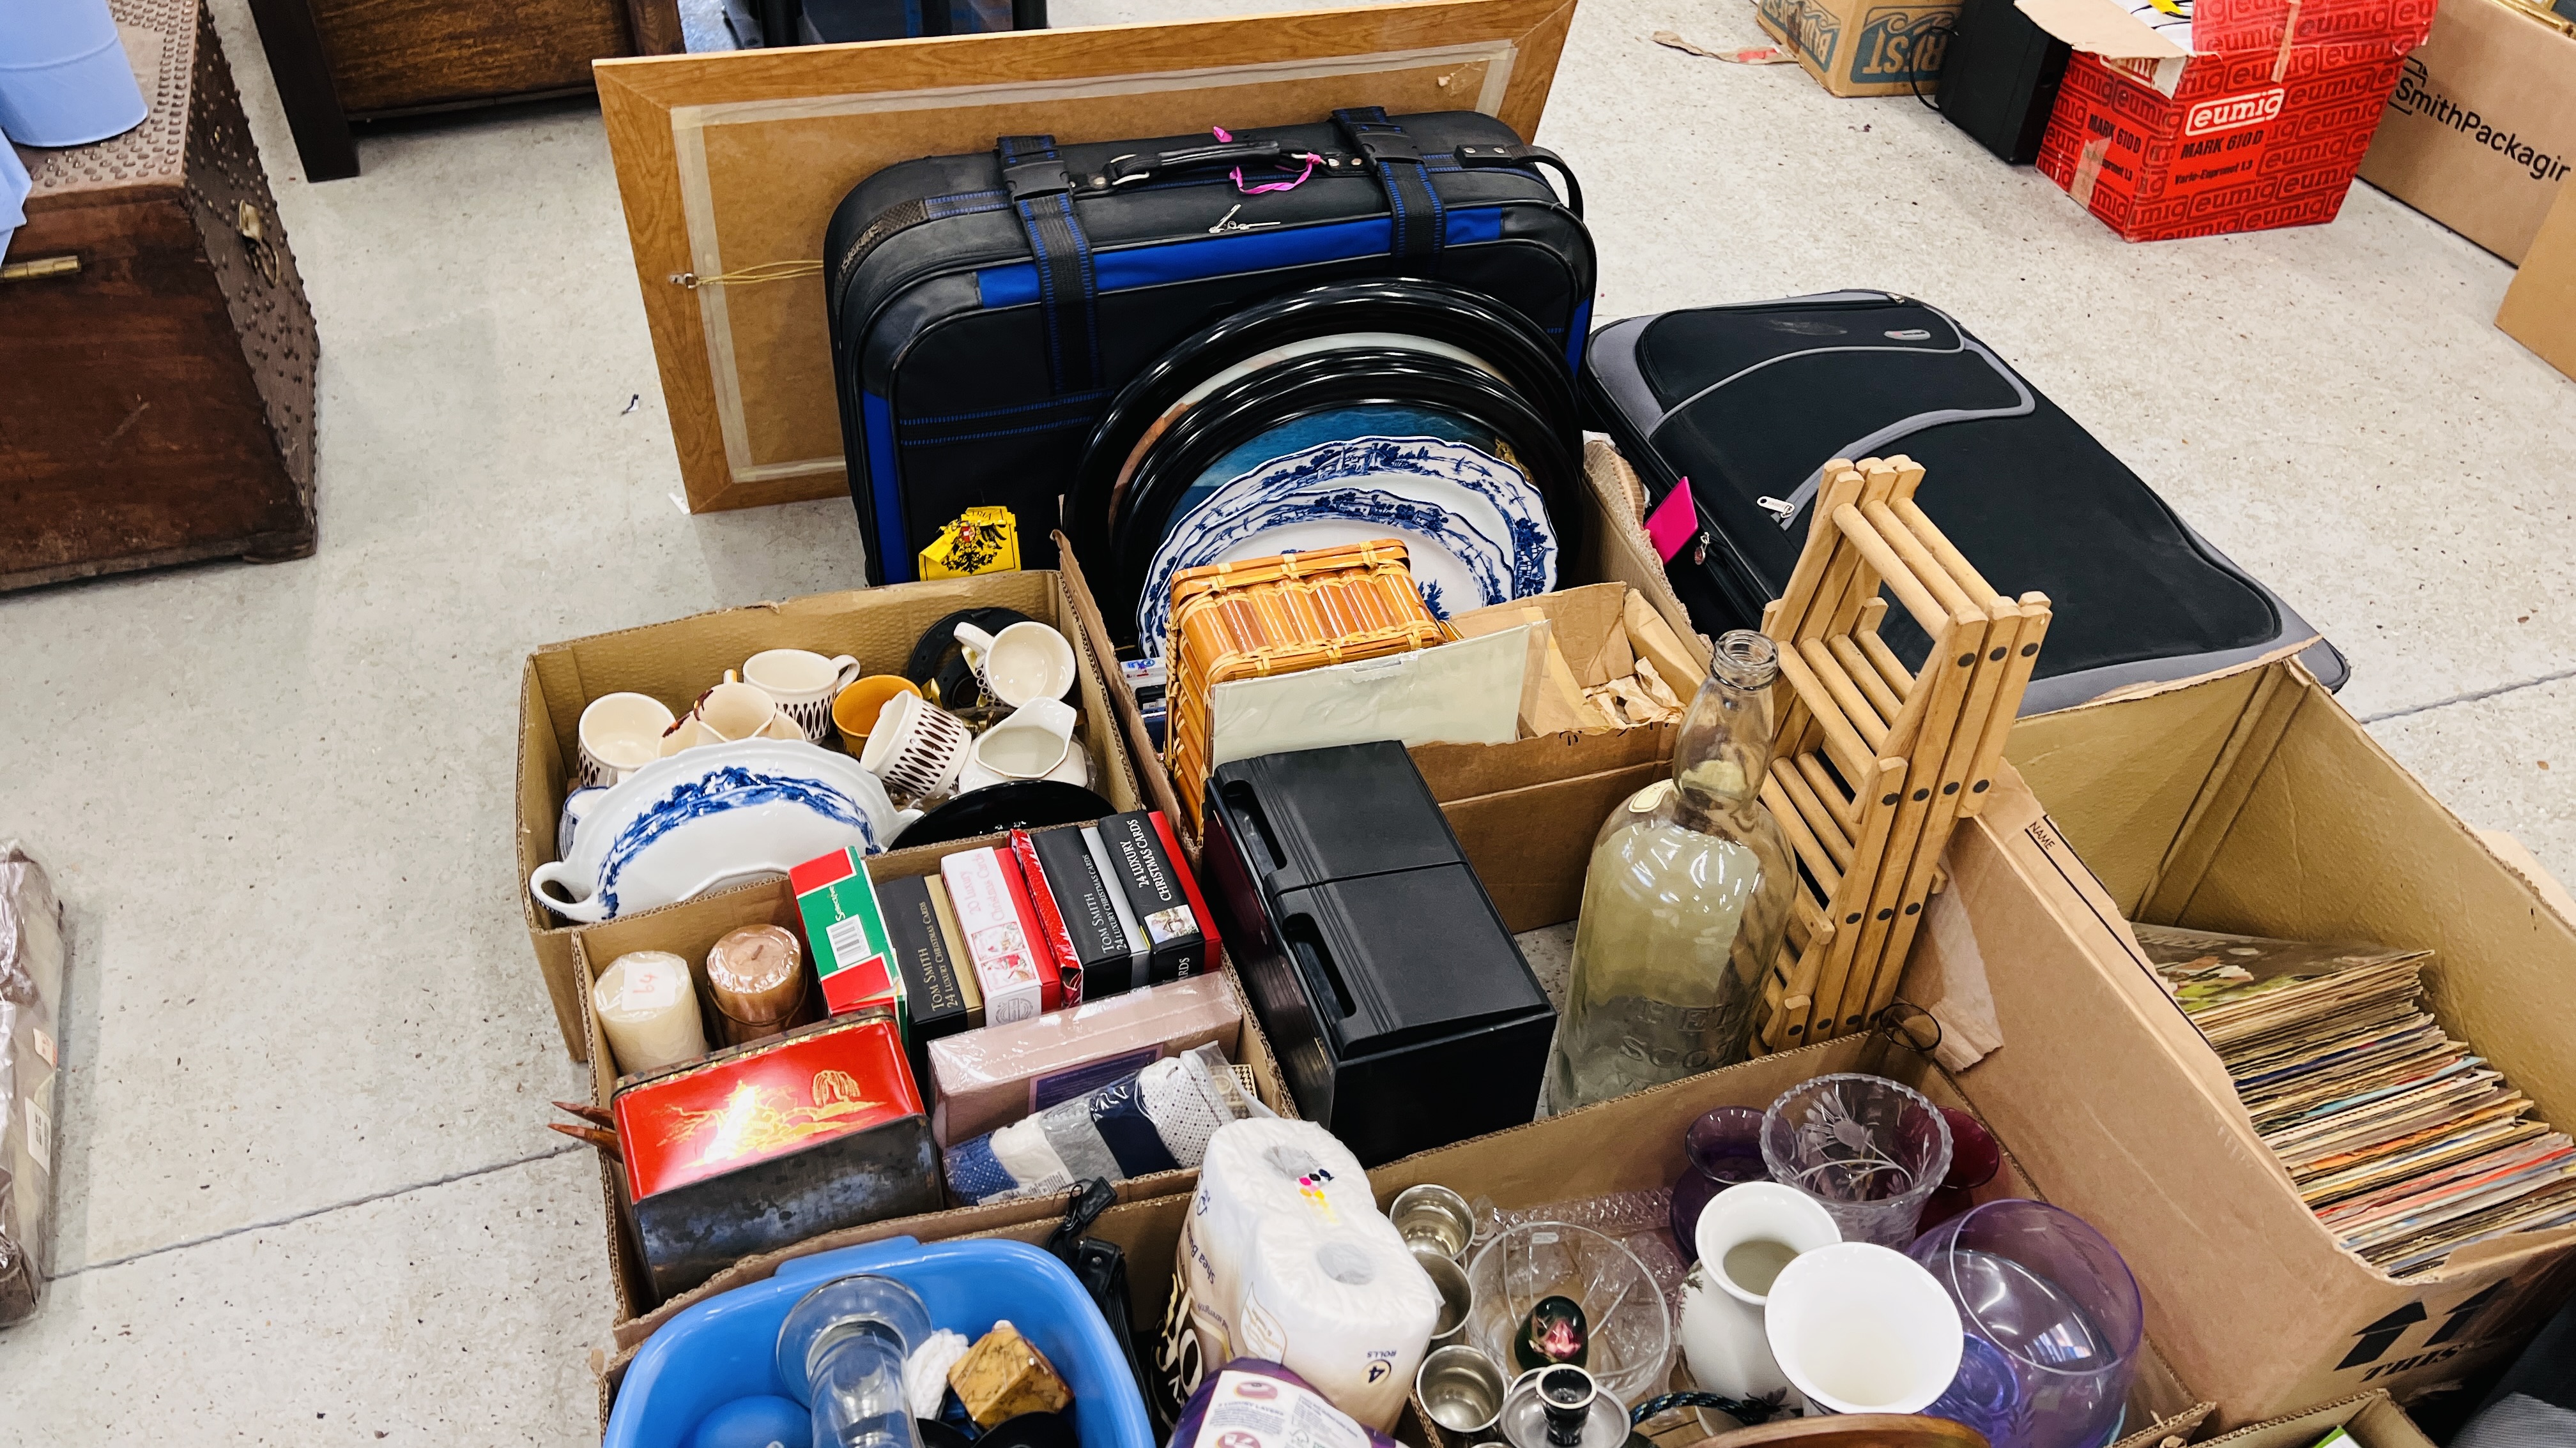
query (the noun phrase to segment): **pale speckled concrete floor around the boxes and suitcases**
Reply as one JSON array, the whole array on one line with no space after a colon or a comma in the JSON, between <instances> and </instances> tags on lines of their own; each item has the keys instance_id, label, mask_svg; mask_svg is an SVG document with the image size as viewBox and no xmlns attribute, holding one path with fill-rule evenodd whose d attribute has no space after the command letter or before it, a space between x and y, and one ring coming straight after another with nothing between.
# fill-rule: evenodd
<instances>
[{"instance_id":1,"label":"pale speckled concrete floor around the boxes and suitcases","mask_svg":"<svg viewBox=\"0 0 2576 1448\"><path fill-rule=\"evenodd\" d=\"M75 938L0 1445L587 1443L613 1309L587 1149L544 1131L587 1087L520 930L520 660L853 585L858 533L677 505L592 108L368 134L304 186L247 0L214 8L322 327L322 551L0 600L0 837ZM2504 263L2370 188L2123 245L1909 98L1656 28L1759 41L1741 0L1582 5L1538 139L1584 175L1600 317L1953 309L2352 657L2406 765L2576 879L2576 384L2491 327Z\"/></svg>"}]
</instances>

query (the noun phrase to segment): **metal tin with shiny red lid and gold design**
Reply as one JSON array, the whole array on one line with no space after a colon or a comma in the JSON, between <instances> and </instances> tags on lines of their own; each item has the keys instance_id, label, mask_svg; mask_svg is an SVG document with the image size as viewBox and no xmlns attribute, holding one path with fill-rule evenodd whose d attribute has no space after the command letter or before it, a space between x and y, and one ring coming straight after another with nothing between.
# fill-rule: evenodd
<instances>
[{"instance_id":1,"label":"metal tin with shiny red lid and gold design","mask_svg":"<svg viewBox=\"0 0 2576 1448\"><path fill-rule=\"evenodd\" d=\"M884 1013L629 1085L611 1110L659 1296L817 1232L940 1206L930 1116Z\"/></svg>"}]
</instances>

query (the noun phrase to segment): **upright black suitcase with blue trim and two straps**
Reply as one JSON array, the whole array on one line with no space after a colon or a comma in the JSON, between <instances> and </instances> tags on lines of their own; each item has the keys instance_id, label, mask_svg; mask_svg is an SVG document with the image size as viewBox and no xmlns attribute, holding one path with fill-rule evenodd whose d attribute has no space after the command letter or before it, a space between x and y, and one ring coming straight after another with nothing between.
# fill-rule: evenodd
<instances>
[{"instance_id":1,"label":"upright black suitcase with blue trim and two straps","mask_svg":"<svg viewBox=\"0 0 2576 1448\"><path fill-rule=\"evenodd\" d=\"M1255 193L1303 157L1303 183ZM1231 142L1002 137L863 180L824 258L868 582L912 580L974 505L1010 508L1023 567L1054 567L1056 500L1092 423L1164 348L1249 301L1440 278L1525 314L1569 371L1592 325L1574 175L1476 111L1337 111Z\"/></svg>"}]
</instances>

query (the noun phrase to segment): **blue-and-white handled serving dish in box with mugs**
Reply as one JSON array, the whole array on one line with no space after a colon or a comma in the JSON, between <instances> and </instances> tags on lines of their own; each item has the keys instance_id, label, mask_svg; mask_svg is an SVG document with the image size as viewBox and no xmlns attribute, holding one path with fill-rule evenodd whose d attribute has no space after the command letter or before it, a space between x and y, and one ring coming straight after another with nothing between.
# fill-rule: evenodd
<instances>
[{"instance_id":1,"label":"blue-and-white handled serving dish in box with mugs","mask_svg":"<svg viewBox=\"0 0 2576 1448\"><path fill-rule=\"evenodd\" d=\"M912 819L858 760L819 745L698 745L587 796L572 850L528 891L564 920L616 920L832 850L876 855Z\"/></svg>"}]
</instances>

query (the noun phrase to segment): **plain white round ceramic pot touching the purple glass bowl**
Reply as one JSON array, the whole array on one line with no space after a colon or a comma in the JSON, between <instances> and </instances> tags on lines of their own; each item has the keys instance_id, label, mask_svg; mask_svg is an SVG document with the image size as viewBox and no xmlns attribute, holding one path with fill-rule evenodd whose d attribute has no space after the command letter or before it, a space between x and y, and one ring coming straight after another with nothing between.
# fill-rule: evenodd
<instances>
[{"instance_id":1,"label":"plain white round ceramic pot touching the purple glass bowl","mask_svg":"<svg viewBox=\"0 0 2576 1448\"><path fill-rule=\"evenodd\" d=\"M1824 1412L1922 1412L1965 1353L1940 1281L1875 1242L1801 1252L1772 1281L1762 1327L1780 1373Z\"/></svg>"}]
</instances>

